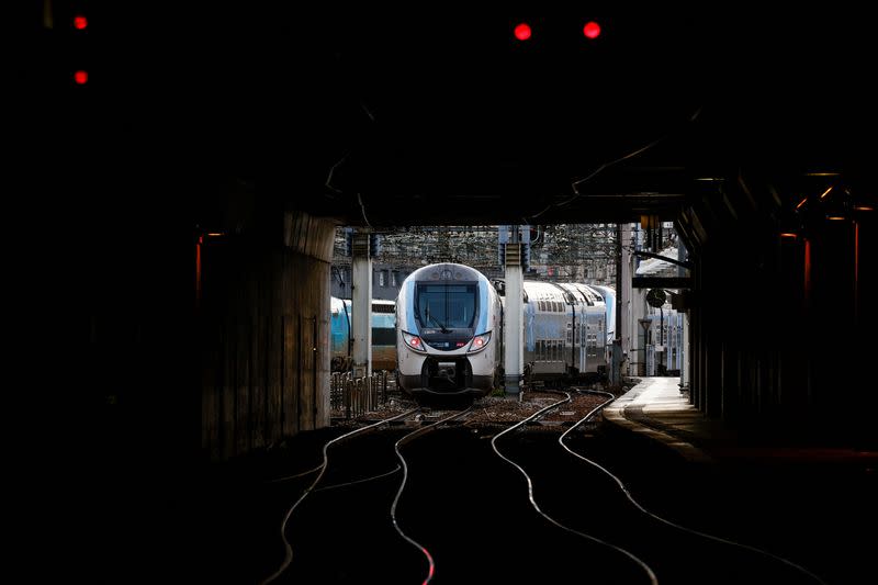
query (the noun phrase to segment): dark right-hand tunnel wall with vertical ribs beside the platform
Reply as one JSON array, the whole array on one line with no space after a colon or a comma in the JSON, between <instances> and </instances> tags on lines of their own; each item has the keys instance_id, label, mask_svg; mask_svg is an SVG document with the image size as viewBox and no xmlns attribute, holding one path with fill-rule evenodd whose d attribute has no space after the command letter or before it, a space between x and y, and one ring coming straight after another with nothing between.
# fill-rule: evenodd
<instances>
[{"instance_id":1,"label":"dark right-hand tunnel wall with vertical ribs beside the platform","mask_svg":"<svg viewBox=\"0 0 878 585\"><path fill-rule=\"evenodd\" d=\"M764 177L701 193L678 222L691 246L690 402L751 430L874 442L866 382L876 317L874 213L828 221L812 214L781 237L781 200ZM871 350L869 348L873 348Z\"/></svg>"}]
</instances>

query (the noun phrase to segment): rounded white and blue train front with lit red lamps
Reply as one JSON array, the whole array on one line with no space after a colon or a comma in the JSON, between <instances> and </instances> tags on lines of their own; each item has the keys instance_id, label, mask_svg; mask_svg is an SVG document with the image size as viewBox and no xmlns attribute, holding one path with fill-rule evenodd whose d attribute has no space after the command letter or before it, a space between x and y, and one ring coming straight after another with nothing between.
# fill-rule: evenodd
<instances>
[{"instance_id":1,"label":"rounded white and blue train front with lit red lamps","mask_svg":"<svg viewBox=\"0 0 878 585\"><path fill-rule=\"evenodd\" d=\"M494 387L499 300L477 270L440 263L408 275L396 301L402 390L484 396Z\"/></svg>"}]
</instances>

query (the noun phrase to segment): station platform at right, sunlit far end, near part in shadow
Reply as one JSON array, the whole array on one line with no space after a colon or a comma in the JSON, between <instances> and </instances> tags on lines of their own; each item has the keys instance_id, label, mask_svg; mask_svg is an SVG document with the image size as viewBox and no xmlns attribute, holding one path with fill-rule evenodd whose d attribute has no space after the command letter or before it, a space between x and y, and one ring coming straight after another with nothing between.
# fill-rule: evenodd
<instances>
[{"instance_id":1,"label":"station platform at right, sunlit far end, near part in shadow","mask_svg":"<svg viewBox=\"0 0 878 585\"><path fill-rule=\"evenodd\" d=\"M853 463L878 469L878 448L838 435L783 428L731 428L689 402L679 378L633 378L635 385L604 408L604 419L660 441L693 463ZM837 416L837 415L835 415ZM844 421L842 421L843 424Z\"/></svg>"}]
</instances>

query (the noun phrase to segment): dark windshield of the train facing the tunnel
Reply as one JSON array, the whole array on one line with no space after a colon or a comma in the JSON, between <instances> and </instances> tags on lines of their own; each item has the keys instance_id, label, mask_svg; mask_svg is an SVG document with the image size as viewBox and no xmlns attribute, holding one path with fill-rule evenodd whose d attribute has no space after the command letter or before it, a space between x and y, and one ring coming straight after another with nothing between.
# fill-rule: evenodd
<instances>
[{"instance_id":1,"label":"dark windshield of the train facing the tunnel","mask_svg":"<svg viewBox=\"0 0 878 585\"><path fill-rule=\"evenodd\" d=\"M479 308L476 283L419 283L415 295L418 320L424 327L469 329Z\"/></svg>"}]
</instances>

